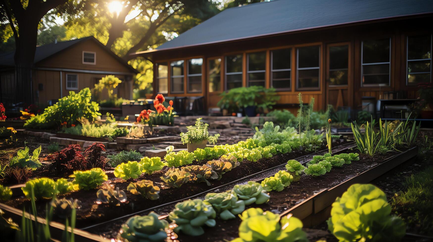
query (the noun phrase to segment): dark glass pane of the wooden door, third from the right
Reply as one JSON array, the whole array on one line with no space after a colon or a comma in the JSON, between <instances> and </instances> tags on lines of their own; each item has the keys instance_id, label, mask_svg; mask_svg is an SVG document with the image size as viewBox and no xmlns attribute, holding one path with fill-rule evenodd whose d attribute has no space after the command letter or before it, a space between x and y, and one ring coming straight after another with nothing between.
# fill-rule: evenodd
<instances>
[{"instance_id":1,"label":"dark glass pane of the wooden door, third from the right","mask_svg":"<svg viewBox=\"0 0 433 242\"><path fill-rule=\"evenodd\" d=\"M347 85L349 76L349 45L329 48L329 85Z\"/></svg>"}]
</instances>

